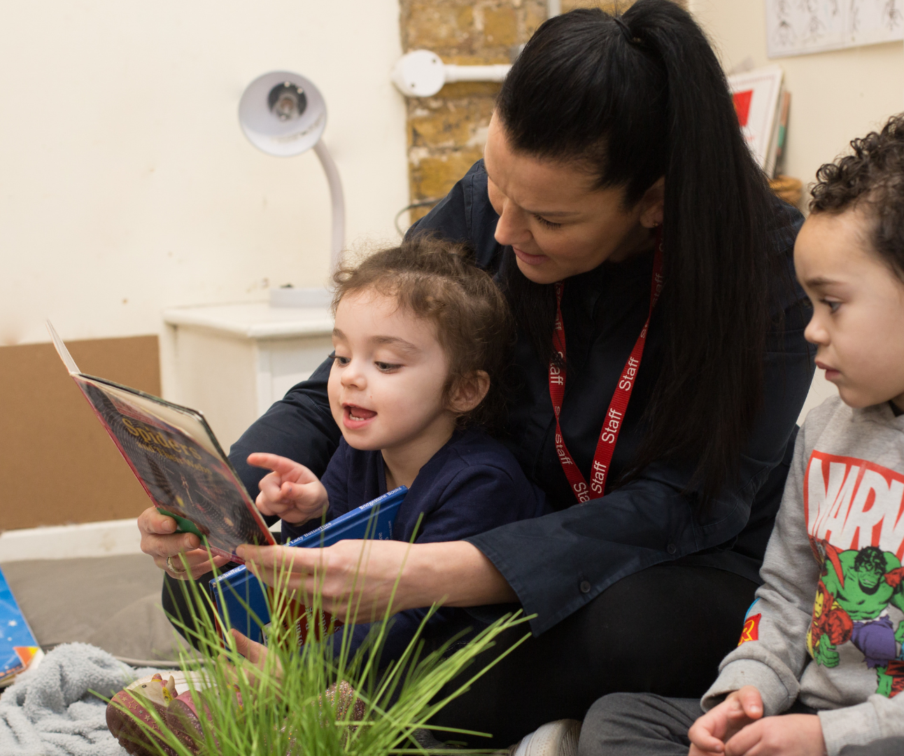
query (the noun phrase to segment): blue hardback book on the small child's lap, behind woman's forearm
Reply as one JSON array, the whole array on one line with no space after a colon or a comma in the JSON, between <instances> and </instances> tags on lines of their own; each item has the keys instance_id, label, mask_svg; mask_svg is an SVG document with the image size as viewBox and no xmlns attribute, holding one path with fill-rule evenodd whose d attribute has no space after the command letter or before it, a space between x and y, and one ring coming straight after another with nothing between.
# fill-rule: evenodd
<instances>
[{"instance_id":1,"label":"blue hardback book on the small child's lap, behind woman's forearm","mask_svg":"<svg viewBox=\"0 0 904 756\"><path fill-rule=\"evenodd\" d=\"M355 538L390 540L399 506L407 493L408 488L404 486L395 488L388 494L378 496L373 501L336 517L310 533L289 541L286 545L322 548ZM270 615L265 593L253 572L250 572L244 564L224 572L211 581L211 592L223 627L228 619L231 627L244 633L251 640L265 642L264 628L270 622ZM297 638L299 642L303 642L308 631L308 618L304 608L299 605L292 619L297 626ZM335 620L333 622L336 624Z\"/></svg>"}]
</instances>

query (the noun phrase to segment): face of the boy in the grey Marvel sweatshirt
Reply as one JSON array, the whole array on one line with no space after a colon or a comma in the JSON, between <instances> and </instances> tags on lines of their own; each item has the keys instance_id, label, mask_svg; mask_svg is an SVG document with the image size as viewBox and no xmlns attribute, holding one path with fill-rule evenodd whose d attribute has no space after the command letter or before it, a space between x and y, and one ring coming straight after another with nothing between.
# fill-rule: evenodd
<instances>
[{"instance_id":1,"label":"face of the boy in the grey Marvel sweatshirt","mask_svg":"<svg viewBox=\"0 0 904 756\"><path fill-rule=\"evenodd\" d=\"M814 213L797 236L797 279L813 303L804 332L846 404L904 410L904 284L872 249L859 210Z\"/></svg>"}]
</instances>

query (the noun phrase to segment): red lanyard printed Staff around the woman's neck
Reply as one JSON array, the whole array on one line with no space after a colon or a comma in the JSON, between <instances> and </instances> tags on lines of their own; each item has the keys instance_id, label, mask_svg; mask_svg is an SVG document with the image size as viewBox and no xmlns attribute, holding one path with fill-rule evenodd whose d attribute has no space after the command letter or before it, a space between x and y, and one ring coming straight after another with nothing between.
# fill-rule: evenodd
<instances>
[{"instance_id":1,"label":"red lanyard printed Staff around the woman's neck","mask_svg":"<svg viewBox=\"0 0 904 756\"><path fill-rule=\"evenodd\" d=\"M559 425L559 415L562 410L562 397L565 395L565 327L562 325L562 291L565 288L563 281L556 284L556 328L552 334L552 345L561 358L561 367L550 362L550 398L552 400L552 410L556 415L556 452L559 455L559 461L562 470L565 471L565 477L571 484L571 490L578 497L579 502L589 501L591 493L594 497L603 496L606 490L606 477L609 471L609 463L612 461L612 454L616 450L616 441L618 432L621 430L622 421L625 419L625 411L627 410L627 402L631 399L631 392L634 391L635 379L637 371L640 368L640 359L644 354L644 345L646 344L646 332L650 327L650 316L653 315L653 308L656 306L656 300L663 288L663 235L660 231L656 234L656 251L653 257L653 281L650 284L650 311L646 315L646 322L641 329L640 335L637 336L634 349L631 350L631 356L627 358L625 369L622 370L621 377L618 379L616 392L612 395L612 401L609 402L609 409L606 413L606 420L603 421L603 430L599 432L599 440L597 442L597 450L593 455L593 464L590 466L590 486L581 475L578 466L568 448L565 446L565 439L562 438L562 430Z\"/></svg>"}]
</instances>

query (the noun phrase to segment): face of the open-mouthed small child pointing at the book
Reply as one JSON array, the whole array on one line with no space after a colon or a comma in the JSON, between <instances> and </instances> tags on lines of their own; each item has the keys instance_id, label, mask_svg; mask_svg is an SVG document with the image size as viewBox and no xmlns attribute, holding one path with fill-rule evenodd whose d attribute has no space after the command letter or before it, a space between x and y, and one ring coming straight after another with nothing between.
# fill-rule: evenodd
<instances>
[{"instance_id":1,"label":"face of the open-mouthed small child pointing at the book","mask_svg":"<svg viewBox=\"0 0 904 756\"><path fill-rule=\"evenodd\" d=\"M327 393L354 449L442 446L455 428L443 401L448 359L432 323L373 291L336 308L335 360Z\"/></svg>"}]
</instances>

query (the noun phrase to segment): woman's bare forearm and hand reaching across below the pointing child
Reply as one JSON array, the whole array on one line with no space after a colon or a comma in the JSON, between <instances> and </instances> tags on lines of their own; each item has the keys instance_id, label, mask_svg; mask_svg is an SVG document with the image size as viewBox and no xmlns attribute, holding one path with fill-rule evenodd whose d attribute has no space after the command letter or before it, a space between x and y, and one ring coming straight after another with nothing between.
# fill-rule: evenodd
<instances>
[{"instance_id":1,"label":"woman's bare forearm and hand reaching across below the pointing child","mask_svg":"<svg viewBox=\"0 0 904 756\"><path fill-rule=\"evenodd\" d=\"M323 608L344 621L350 607L357 610L351 621L368 622L390 603L395 613L435 602L479 606L517 600L493 562L465 541L340 541L325 549L244 545L238 553L270 585L286 570L280 584L303 596L319 590Z\"/></svg>"}]
</instances>

